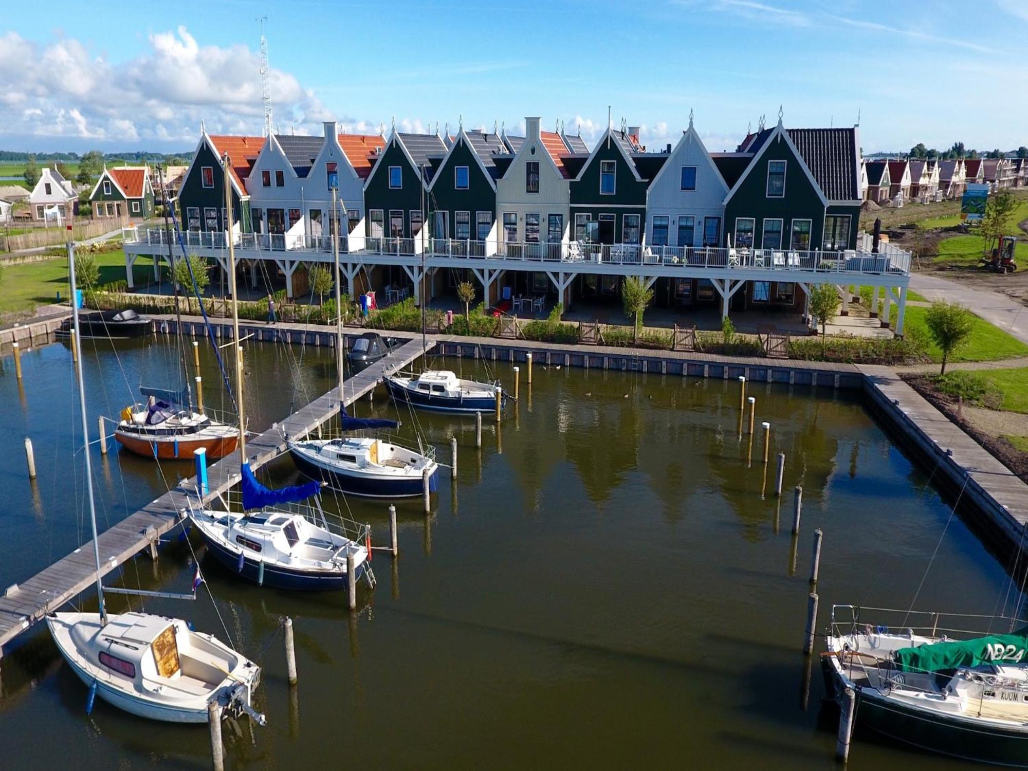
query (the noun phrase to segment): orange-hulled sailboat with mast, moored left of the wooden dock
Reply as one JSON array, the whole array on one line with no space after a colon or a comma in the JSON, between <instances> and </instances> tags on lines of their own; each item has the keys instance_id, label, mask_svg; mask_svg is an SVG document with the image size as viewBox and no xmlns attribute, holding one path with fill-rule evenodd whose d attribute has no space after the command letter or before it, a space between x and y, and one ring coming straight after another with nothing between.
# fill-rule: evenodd
<instances>
[{"instance_id":1,"label":"orange-hulled sailboat with mast, moored left of the wooden dock","mask_svg":"<svg viewBox=\"0 0 1028 771\"><path fill-rule=\"evenodd\" d=\"M169 191L159 176L158 185L164 200L170 201ZM169 206L164 207L164 224L168 225ZM168 240L168 261L172 261L172 240ZM173 277L174 279L174 277ZM175 283L175 314L178 317L176 337L183 372L186 371L182 345L182 317L179 311L179 288ZM196 378L197 410L193 410L192 392L188 382L181 391L141 387L147 398L144 404L133 404L121 410L121 419L114 427L114 439L125 449L144 457L156 460L191 461L193 452L204 448L210 458L224 457L235 450L240 430L215 420L204 410L204 396L199 378Z\"/></svg>"}]
</instances>

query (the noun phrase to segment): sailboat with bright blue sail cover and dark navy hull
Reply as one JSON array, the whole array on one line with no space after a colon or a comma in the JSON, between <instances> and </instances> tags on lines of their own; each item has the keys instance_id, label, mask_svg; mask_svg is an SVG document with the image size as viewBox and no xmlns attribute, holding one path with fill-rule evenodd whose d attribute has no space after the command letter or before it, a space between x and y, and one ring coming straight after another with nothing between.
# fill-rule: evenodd
<instances>
[{"instance_id":1,"label":"sailboat with bright blue sail cover and dark navy hull","mask_svg":"<svg viewBox=\"0 0 1028 771\"><path fill-rule=\"evenodd\" d=\"M222 159L228 179L228 156ZM231 188L225 186L227 230L232 232ZM228 238L229 286L232 293L233 340L240 339L240 317L235 293L235 248ZM342 589L351 581L365 576L374 585L368 563L370 534L366 525L356 538L333 531L318 501L321 482L269 489L257 480L247 461L243 401L243 359L238 344L235 353L236 399L240 418L240 456L242 508L221 498L223 509L199 507L190 503L189 518L204 537L214 556L230 570L262 586L279 589ZM313 506L297 504L314 501ZM292 505L291 508L286 508ZM353 561L354 575L347 563Z\"/></svg>"}]
</instances>

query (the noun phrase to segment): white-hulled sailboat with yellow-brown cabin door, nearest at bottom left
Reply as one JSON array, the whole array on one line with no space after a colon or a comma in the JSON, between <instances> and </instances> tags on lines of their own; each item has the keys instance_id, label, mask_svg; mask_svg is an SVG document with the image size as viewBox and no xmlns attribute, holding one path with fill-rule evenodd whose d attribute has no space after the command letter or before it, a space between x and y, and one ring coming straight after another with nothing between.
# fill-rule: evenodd
<instances>
[{"instance_id":1,"label":"white-hulled sailboat with yellow-brown cabin door, nearest at bottom left","mask_svg":"<svg viewBox=\"0 0 1028 771\"><path fill-rule=\"evenodd\" d=\"M68 244L71 291L75 295L74 246ZM81 359L78 308L72 303L73 345ZM88 436L85 387L81 367L78 381L82 435ZM195 632L181 620L149 613L108 615L100 568L93 468L84 447L85 481L93 553L97 565L98 613L61 612L46 617L53 641L75 674L94 695L132 714L171 723L207 723L208 704L217 701L228 714L247 712L263 725L264 717L251 706L260 683L260 667L216 637ZM201 578L193 582L193 590ZM146 592L140 592L146 593Z\"/></svg>"}]
</instances>

